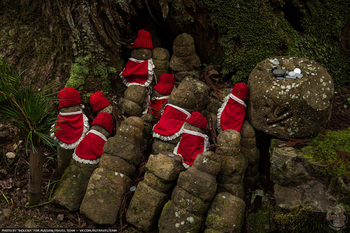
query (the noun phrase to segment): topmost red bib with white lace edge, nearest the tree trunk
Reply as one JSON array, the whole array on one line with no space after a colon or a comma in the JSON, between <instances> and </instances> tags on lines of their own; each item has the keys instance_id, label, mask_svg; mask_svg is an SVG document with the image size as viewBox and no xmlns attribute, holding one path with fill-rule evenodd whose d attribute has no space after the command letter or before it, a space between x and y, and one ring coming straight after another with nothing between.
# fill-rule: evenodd
<instances>
[{"instance_id":1,"label":"topmost red bib with white lace edge, nearest the tree trunk","mask_svg":"<svg viewBox=\"0 0 350 233\"><path fill-rule=\"evenodd\" d=\"M131 85L148 86L152 81L153 63L151 60L136 60L129 58L123 72L120 73L120 78L128 87Z\"/></svg>"}]
</instances>

